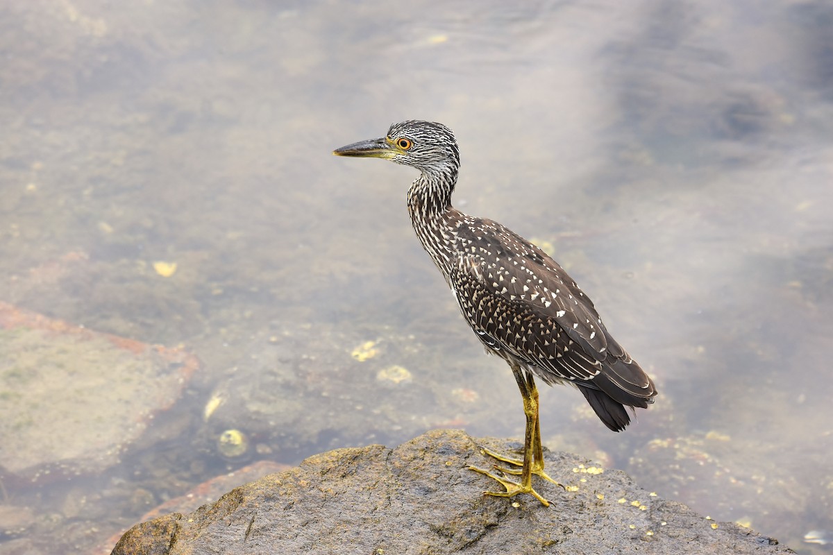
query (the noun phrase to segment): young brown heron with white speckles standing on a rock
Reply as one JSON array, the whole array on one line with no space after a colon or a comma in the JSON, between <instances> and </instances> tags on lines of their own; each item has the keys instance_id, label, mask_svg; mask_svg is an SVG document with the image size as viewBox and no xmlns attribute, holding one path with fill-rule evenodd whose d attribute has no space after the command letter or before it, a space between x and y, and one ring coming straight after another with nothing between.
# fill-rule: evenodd
<instances>
[{"instance_id":1,"label":"young brown heron with white speckles standing on a rock","mask_svg":"<svg viewBox=\"0 0 833 555\"><path fill-rule=\"evenodd\" d=\"M481 448L514 468L495 465L500 475L468 468L501 484L501 491L486 495L513 498L528 493L549 506L531 480L537 475L561 486L545 470L535 379L575 386L614 432L631 422L626 407L636 413L637 407L646 409L654 402L653 380L613 339L593 302L550 255L496 221L451 206L460 170L460 150L451 129L431 121L402 121L390 126L386 136L332 153L382 158L420 171L407 192L416 237L486 352L509 364L526 415L522 460Z\"/></svg>"}]
</instances>

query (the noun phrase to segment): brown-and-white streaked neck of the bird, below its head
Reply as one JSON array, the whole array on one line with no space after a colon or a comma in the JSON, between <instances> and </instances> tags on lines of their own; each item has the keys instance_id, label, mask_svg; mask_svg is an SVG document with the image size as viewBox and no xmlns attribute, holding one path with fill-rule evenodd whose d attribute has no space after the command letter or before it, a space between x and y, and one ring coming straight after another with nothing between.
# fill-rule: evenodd
<instances>
[{"instance_id":1,"label":"brown-and-white streaked neck of the bird, below its head","mask_svg":"<svg viewBox=\"0 0 833 555\"><path fill-rule=\"evenodd\" d=\"M456 169L442 174L423 173L408 190L408 213L416 237L446 280L455 262L455 222L462 216L451 206L456 181Z\"/></svg>"}]
</instances>

